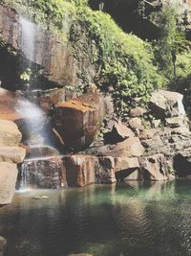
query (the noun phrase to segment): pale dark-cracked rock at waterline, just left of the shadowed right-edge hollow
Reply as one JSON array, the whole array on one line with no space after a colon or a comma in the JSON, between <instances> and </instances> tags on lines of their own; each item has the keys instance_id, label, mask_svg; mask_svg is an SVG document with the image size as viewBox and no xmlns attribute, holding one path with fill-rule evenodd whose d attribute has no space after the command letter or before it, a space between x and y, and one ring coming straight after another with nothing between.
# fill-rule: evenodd
<instances>
[{"instance_id":1,"label":"pale dark-cracked rock at waterline, just left of the shadowed right-edge hollow","mask_svg":"<svg viewBox=\"0 0 191 256\"><path fill-rule=\"evenodd\" d=\"M145 180L166 180L169 177L164 155L159 153L138 159Z\"/></svg>"}]
</instances>

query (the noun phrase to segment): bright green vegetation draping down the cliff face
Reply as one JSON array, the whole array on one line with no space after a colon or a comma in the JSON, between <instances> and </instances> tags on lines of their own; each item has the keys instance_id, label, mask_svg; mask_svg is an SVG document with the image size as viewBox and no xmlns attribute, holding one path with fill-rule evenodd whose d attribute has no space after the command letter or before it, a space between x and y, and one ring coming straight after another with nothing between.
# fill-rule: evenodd
<instances>
[{"instance_id":1,"label":"bright green vegetation draping down the cliff face","mask_svg":"<svg viewBox=\"0 0 191 256\"><path fill-rule=\"evenodd\" d=\"M151 91L172 79L173 50L177 51L178 76L191 73L190 45L180 35L173 8L159 13L160 37L153 47L136 35L123 33L109 14L92 11L87 2L0 0L62 35L78 62L81 90L96 82L99 89L112 93L121 115L128 113L135 98L147 103Z\"/></svg>"}]
</instances>

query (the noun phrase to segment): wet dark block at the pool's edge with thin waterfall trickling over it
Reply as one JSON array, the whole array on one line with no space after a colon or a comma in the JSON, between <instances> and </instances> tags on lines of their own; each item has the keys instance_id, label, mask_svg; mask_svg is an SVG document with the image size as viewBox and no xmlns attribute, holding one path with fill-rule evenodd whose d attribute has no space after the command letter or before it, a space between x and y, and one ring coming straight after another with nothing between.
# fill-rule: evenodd
<instances>
[{"instance_id":1,"label":"wet dark block at the pool's edge with thin waterfall trickling over it","mask_svg":"<svg viewBox=\"0 0 191 256\"><path fill-rule=\"evenodd\" d=\"M19 167L18 187L58 189L67 186L61 157L25 160Z\"/></svg>"}]
</instances>

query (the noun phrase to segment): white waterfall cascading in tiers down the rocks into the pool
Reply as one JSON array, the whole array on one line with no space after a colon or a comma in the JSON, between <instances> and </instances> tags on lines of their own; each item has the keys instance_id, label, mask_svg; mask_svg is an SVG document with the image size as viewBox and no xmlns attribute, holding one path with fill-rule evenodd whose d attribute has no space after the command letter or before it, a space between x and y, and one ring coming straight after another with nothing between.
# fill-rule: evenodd
<instances>
[{"instance_id":1,"label":"white waterfall cascading in tiers down the rocks into the pool","mask_svg":"<svg viewBox=\"0 0 191 256\"><path fill-rule=\"evenodd\" d=\"M26 59L28 59L27 68L32 69L32 62L38 64L38 60L42 57L39 55L39 48L43 47L39 45L39 43L43 40L39 38L41 35L39 32L39 28L36 24L32 23L30 20L25 17L20 16L20 27L21 27L21 38L20 38L20 47L23 55ZM21 69L24 70L26 68L26 63L21 61ZM32 81L30 81L30 89L32 91L33 88ZM30 92L29 92L30 93ZM22 115L26 116L26 121L24 120L25 131L27 131L27 143L31 150L33 149L41 149L45 148L46 145L51 146L51 142L48 141L47 130L49 130L50 120L47 114L36 104L29 100L19 100L17 105L17 112L21 112ZM30 138L30 139L29 139ZM39 150L40 152L40 150ZM49 155L49 154L48 154ZM54 154L56 155L56 154ZM41 155L39 153L38 159L42 160L42 157L45 155ZM53 158L53 156L50 156ZM41 161L42 166L40 166L39 162L36 162L35 159L26 159L26 161L21 165L20 168L20 191L26 191L28 189L28 184L30 183L31 178L39 178L41 173L40 171L44 171L47 167L45 162ZM38 163L38 164L36 164ZM31 169L32 172L31 172ZM38 170L36 170L38 169ZM50 170L50 167L49 167ZM39 171L39 172L38 172ZM30 176L32 175L32 176ZM36 175L36 176L35 176ZM34 177L35 176L35 177Z\"/></svg>"}]
</instances>

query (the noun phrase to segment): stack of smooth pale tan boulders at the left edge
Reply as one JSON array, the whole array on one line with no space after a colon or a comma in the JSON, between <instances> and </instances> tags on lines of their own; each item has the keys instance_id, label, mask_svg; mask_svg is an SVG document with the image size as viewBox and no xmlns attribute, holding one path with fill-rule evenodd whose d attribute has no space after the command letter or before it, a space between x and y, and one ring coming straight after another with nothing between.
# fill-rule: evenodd
<instances>
[{"instance_id":1,"label":"stack of smooth pale tan boulders at the left edge","mask_svg":"<svg viewBox=\"0 0 191 256\"><path fill-rule=\"evenodd\" d=\"M18 170L26 150L19 148L21 133L11 121L0 120L0 204L11 203Z\"/></svg>"}]
</instances>

